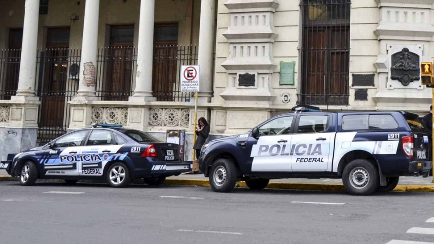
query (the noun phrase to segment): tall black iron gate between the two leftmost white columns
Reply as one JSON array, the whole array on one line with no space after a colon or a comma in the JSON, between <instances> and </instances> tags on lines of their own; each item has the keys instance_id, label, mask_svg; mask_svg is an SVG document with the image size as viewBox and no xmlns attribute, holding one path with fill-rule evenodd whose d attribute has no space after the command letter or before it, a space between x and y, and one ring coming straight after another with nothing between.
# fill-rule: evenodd
<instances>
[{"instance_id":1,"label":"tall black iron gate between the two leftmost white columns","mask_svg":"<svg viewBox=\"0 0 434 244\"><path fill-rule=\"evenodd\" d=\"M71 99L76 96L79 82L81 49L52 48L36 58L39 96L37 143L44 144L66 133L69 126Z\"/></svg>"}]
</instances>

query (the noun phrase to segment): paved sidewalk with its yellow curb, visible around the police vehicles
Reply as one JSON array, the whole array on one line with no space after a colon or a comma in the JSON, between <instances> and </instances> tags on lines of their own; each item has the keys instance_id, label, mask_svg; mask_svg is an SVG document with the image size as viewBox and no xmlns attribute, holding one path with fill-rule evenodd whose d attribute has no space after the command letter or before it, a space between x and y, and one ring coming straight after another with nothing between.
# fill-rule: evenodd
<instances>
[{"instance_id":1,"label":"paved sidewalk with its yellow curb, visible around the police vehicles","mask_svg":"<svg viewBox=\"0 0 434 244\"><path fill-rule=\"evenodd\" d=\"M11 177L5 170L0 170L0 181L11 180ZM398 186L394 191L419 191L419 192L434 192L433 178L401 176ZM183 174L178 176L168 177L165 181L166 185L197 185L209 187L209 180L203 174ZM247 187L246 183L241 181L238 187ZM307 179L307 178L289 178L270 180L267 188L274 189L296 189L296 190L319 190L319 191L345 191L342 185L342 179Z\"/></svg>"}]
</instances>

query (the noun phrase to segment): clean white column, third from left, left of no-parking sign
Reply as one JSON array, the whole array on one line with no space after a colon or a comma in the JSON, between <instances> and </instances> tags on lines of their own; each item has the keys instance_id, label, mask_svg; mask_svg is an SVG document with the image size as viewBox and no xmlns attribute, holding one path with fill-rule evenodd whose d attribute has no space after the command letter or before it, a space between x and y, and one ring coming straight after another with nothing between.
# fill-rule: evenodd
<instances>
[{"instance_id":1,"label":"clean white column, third from left, left of no-parking sign","mask_svg":"<svg viewBox=\"0 0 434 244\"><path fill-rule=\"evenodd\" d=\"M137 72L133 96L129 101L155 101L152 96L152 52L154 44L155 0L140 1L137 44Z\"/></svg>"}]
</instances>

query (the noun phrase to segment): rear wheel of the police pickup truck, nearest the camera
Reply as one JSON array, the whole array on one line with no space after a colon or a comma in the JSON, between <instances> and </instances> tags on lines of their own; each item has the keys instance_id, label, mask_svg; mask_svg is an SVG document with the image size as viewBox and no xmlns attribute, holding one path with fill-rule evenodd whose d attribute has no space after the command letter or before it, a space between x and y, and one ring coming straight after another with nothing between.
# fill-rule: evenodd
<instances>
[{"instance_id":1,"label":"rear wheel of the police pickup truck, nearest the camera","mask_svg":"<svg viewBox=\"0 0 434 244\"><path fill-rule=\"evenodd\" d=\"M370 195L379 184L378 169L365 159L355 159L342 172L345 189L352 195Z\"/></svg>"}]
</instances>

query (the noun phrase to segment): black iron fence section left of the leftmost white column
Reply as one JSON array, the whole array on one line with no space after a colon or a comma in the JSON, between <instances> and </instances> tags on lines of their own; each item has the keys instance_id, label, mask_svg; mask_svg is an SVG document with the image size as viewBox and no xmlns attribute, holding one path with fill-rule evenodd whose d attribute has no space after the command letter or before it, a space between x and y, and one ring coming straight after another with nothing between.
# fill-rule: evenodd
<instances>
[{"instance_id":1,"label":"black iron fence section left of the leftmost white column","mask_svg":"<svg viewBox=\"0 0 434 244\"><path fill-rule=\"evenodd\" d=\"M0 50L0 99L15 96L20 73L21 49Z\"/></svg>"}]
</instances>

